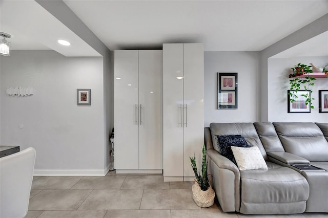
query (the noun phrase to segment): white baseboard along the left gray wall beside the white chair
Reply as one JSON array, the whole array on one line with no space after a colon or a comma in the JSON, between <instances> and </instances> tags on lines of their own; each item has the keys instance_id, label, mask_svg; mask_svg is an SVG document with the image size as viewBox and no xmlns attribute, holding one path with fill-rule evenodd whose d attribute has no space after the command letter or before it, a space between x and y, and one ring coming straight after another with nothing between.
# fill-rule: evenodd
<instances>
[{"instance_id":1,"label":"white baseboard along the left gray wall beside the white chair","mask_svg":"<svg viewBox=\"0 0 328 218\"><path fill-rule=\"evenodd\" d=\"M106 176L110 165L106 169L34 169L34 176Z\"/></svg>"}]
</instances>

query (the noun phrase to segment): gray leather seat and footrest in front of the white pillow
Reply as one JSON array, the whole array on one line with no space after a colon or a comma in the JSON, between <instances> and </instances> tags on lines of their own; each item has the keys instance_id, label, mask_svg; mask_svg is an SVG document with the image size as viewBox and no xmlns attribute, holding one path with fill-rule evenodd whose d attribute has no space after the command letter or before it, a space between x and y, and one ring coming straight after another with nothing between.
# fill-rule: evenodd
<instances>
[{"instance_id":1,"label":"gray leather seat and footrest in front of the white pillow","mask_svg":"<svg viewBox=\"0 0 328 218\"><path fill-rule=\"evenodd\" d=\"M268 169L240 171L241 206L240 212L252 214L262 207L263 213L290 213L291 204L298 204L294 213L305 210L309 198L309 184L297 171L278 164L267 162ZM285 206L284 206L285 205ZM276 211L277 207L281 211Z\"/></svg>"}]
</instances>

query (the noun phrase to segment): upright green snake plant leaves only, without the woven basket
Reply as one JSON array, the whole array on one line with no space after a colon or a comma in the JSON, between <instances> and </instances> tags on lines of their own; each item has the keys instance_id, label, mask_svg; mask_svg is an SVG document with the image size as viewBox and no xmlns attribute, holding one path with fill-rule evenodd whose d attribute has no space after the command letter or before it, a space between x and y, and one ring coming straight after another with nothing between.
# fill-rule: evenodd
<instances>
[{"instance_id":1,"label":"upright green snake plant leaves only, without the woven basket","mask_svg":"<svg viewBox=\"0 0 328 218\"><path fill-rule=\"evenodd\" d=\"M190 158L191 166L193 167L195 177L197 180L198 185L200 186L200 189L203 191L206 191L210 187L210 182L207 175L207 161L206 161L206 147L205 145L202 148L202 160L201 160L201 174L198 170L197 172L197 165L196 165L196 157L194 154L194 157Z\"/></svg>"}]
</instances>

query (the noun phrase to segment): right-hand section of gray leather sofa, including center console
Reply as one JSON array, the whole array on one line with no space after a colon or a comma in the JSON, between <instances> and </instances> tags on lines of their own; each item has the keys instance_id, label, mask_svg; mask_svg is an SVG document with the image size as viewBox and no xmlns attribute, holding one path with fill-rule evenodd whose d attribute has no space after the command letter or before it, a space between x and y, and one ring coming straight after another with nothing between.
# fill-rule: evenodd
<instances>
[{"instance_id":1,"label":"right-hand section of gray leather sofa, including center console","mask_svg":"<svg viewBox=\"0 0 328 218\"><path fill-rule=\"evenodd\" d=\"M292 167L289 164L305 163L323 169L302 171L292 167L310 185L305 212L328 212L328 123L274 122L273 126L285 152L273 155L268 152L269 160L289 167Z\"/></svg>"}]
</instances>

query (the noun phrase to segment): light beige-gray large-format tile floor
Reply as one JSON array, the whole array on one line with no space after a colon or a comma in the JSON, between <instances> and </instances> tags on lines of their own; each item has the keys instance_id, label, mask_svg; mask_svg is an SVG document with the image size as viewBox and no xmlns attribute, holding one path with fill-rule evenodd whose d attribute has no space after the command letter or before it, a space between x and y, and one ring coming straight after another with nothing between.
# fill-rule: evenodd
<instances>
[{"instance_id":1,"label":"light beige-gray large-format tile floor","mask_svg":"<svg viewBox=\"0 0 328 218\"><path fill-rule=\"evenodd\" d=\"M163 182L161 175L34 177L26 218L328 217L327 213L243 215L224 213L217 202L198 207L192 182Z\"/></svg>"}]
</instances>

